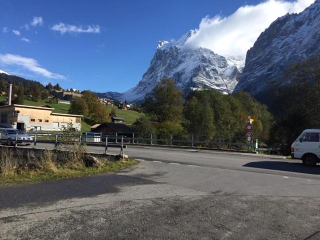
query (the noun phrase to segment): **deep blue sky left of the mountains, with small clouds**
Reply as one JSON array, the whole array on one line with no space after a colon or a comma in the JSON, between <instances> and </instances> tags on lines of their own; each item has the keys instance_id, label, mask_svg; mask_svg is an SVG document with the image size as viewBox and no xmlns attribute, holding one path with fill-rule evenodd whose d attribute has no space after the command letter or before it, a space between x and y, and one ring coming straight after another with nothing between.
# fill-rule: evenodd
<instances>
[{"instance_id":1,"label":"deep blue sky left of the mountains, with small clouds","mask_svg":"<svg viewBox=\"0 0 320 240\"><path fill-rule=\"evenodd\" d=\"M64 88L123 92L141 79L159 40L260 2L0 0L0 69Z\"/></svg>"}]
</instances>

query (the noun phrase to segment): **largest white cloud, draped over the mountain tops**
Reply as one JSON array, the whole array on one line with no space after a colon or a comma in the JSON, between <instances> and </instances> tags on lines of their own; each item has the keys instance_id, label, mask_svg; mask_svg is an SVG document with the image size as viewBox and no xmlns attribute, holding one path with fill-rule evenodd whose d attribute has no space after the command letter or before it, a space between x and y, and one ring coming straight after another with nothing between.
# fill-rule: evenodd
<instances>
[{"instance_id":1,"label":"largest white cloud, draped over the mountain tops","mask_svg":"<svg viewBox=\"0 0 320 240\"><path fill-rule=\"evenodd\" d=\"M314 0L267 0L244 5L233 14L202 18L199 29L185 43L187 47L206 47L224 56L245 57L246 51L277 17L300 12Z\"/></svg>"}]
</instances>

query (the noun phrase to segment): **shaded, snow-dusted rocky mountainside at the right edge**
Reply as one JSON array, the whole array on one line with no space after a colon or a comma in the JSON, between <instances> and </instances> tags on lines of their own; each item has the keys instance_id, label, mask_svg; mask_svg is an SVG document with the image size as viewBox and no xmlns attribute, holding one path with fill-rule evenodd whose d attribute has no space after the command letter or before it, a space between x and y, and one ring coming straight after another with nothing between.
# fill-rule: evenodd
<instances>
[{"instance_id":1,"label":"shaded, snow-dusted rocky mountainside at the right edge","mask_svg":"<svg viewBox=\"0 0 320 240\"><path fill-rule=\"evenodd\" d=\"M283 72L320 52L320 0L300 13L276 19L246 54L235 91L245 90L262 101L274 87L285 86Z\"/></svg>"}]
</instances>

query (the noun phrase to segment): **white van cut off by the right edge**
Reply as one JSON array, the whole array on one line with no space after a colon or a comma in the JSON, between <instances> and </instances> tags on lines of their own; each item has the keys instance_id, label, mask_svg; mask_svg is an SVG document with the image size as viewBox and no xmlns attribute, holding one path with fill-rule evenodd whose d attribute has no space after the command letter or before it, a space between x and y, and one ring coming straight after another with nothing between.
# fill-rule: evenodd
<instances>
[{"instance_id":1,"label":"white van cut off by the right edge","mask_svg":"<svg viewBox=\"0 0 320 240\"><path fill-rule=\"evenodd\" d=\"M315 166L320 162L320 129L305 129L291 145L291 157L303 164Z\"/></svg>"}]
</instances>

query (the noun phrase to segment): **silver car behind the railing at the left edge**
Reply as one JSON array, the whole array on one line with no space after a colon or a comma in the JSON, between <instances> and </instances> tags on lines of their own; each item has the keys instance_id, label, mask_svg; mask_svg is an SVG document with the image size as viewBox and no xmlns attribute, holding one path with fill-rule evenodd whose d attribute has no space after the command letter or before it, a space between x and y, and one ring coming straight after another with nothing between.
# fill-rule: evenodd
<instances>
[{"instance_id":1,"label":"silver car behind the railing at the left edge","mask_svg":"<svg viewBox=\"0 0 320 240\"><path fill-rule=\"evenodd\" d=\"M1 143L5 143L7 145L15 144L16 133L17 135L17 144L18 145L30 145L32 136L25 134L19 129L15 128L0 128L1 133Z\"/></svg>"}]
</instances>

